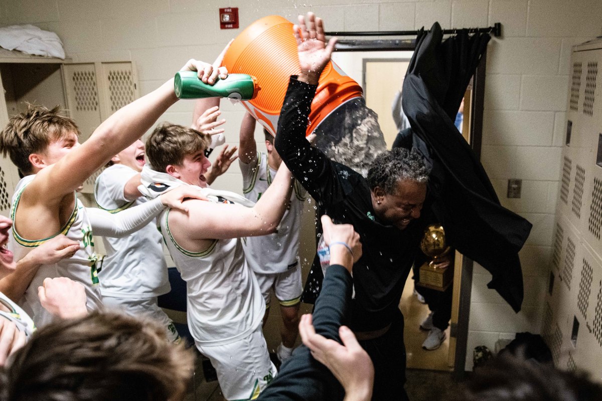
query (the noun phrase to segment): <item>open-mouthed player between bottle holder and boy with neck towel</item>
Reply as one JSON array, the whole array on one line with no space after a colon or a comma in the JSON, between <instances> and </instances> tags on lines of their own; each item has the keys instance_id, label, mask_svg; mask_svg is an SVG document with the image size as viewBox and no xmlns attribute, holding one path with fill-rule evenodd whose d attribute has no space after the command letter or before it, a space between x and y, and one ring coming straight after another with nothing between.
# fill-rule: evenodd
<instances>
[{"instance_id":1,"label":"open-mouthed player between bottle holder and boy with neck towel","mask_svg":"<svg viewBox=\"0 0 602 401\"><path fill-rule=\"evenodd\" d=\"M194 121L199 130L216 126L214 109L208 109ZM217 124L219 125L219 124ZM208 182L225 173L236 159L237 147L222 148L211 170ZM96 179L94 197L98 207L110 213L120 213L147 199L138 191L144 161L144 142L138 139L111 158L110 166ZM163 256L163 237L155 221L139 231L123 237L102 237L107 256L99 272L102 302L107 308L122 310L130 316L148 316L166 329L167 338L178 342L180 337L172 320L158 306L158 296L170 291L167 264Z\"/></svg>"}]
</instances>

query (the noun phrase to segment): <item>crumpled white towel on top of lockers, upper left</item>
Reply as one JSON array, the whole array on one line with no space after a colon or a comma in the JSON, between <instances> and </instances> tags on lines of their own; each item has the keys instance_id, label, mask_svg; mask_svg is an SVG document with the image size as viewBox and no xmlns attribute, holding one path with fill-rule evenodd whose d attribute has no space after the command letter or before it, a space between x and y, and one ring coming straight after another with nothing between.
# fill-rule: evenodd
<instances>
[{"instance_id":1,"label":"crumpled white towel on top of lockers, upper left","mask_svg":"<svg viewBox=\"0 0 602 401\"><path fill-rule=\"evenodd\" d=\"M63 42L57 34L29 24L0 28L0 46L26 54L65 58Z\"/></svg>"}]
</instances>

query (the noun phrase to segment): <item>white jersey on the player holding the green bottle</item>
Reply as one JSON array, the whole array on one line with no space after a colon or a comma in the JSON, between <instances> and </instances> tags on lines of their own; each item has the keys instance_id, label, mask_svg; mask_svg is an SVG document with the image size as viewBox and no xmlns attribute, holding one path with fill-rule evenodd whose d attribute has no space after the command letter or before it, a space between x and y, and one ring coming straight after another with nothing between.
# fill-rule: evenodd
<instances>
[{"instance_id":1,"label":"white jersey on the player holding the green bottle","mask_svg":"<svg viewBox=\"0 0 602 401\"><path fill-rule=\"evenodd\" d=\"M13 204L11 206L10 217L14 221L14 215L19 206L19 199L26 185L33 179L34 175L27 176L19 181L13 195ZM73 192L75 197L75 192ZM19 236L19 227L13 225L13 235L8 240L8 246L14 253L14 259L20 260L36 246L46 242L52 237L45 239L25 239ZM54 317L46 311L40 304L37 289L42 286L46 277L67 277L73 281L78 281L84 285L85 295L87 297L86 306L88 311L96 310L102 307L101 293L99 290L98 274L96 273L96 262L98 258L94 253L94 242L92 240L92 225L88 219L84 205L75 199L75 209L71 213L67 223L61 228L58 234L64 234L69 239L79 242L79 250L68 259L60 260L52 265L42 265L38 269L35 277L29 284L20 306L29 316L32 317L37 327L42 327L52 321ZM54 236L53 236L54 237Z\"/></svg>"}]
</instances>

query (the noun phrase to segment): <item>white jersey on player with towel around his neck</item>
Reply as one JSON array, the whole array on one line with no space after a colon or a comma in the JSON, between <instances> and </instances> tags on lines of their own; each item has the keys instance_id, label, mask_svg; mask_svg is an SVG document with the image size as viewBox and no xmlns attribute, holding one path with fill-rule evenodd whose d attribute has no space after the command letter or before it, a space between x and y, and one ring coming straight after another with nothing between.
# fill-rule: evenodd
<instances>
[{"instance_id":1,"label":"white jersey on player with towel around his neck","mask_svg":"<svg viewBox=\"0 0 602 401\"><path fill-rule=\"evenodd\" d=\"M219 239L202 252L182 248L172 236L169 209L161 233L186 281L188 328L201 346L232 343L249 335L263 319L265 301L244 260L240 239Z\"/></svg>"}]
</instances>

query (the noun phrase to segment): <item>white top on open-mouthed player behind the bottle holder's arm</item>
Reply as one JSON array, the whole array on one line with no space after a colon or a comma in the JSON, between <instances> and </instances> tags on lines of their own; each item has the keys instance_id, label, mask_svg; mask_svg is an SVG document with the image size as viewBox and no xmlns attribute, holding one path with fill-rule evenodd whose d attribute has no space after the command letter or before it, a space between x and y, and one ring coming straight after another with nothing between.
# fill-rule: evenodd
<instances>
[{"instance_id":1,"label":"white top on open-mouthed player behind the bottle holder's arm","mask_svg":"<svg viewBox=\"0 0 602 401\"><path fill-rule=\"evenodd\" d=\"M114 164L96 179L94 197L101 209L118 213L146 202L138 197L128 201L123 188L137 174L131 168ZM102 261L101 293L119 298L154 298L169 292L167 264L163 256L161 233L150 222L123 238L102 237L107 256Z\"/></svg>"}]
</instances>

